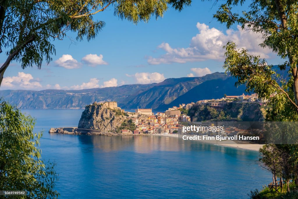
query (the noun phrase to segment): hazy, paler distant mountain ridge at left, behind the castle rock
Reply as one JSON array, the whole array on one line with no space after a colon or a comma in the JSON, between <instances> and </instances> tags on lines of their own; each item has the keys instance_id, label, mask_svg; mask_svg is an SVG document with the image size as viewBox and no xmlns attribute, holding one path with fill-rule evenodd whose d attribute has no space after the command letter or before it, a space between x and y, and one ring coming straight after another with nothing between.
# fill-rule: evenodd
<instances>
[{"instance_id":1,"label":"hazy, paler distant mountain ridge at left, behind the castle rock","mask_svg":"<svg viewBox=\"0 0 298 199\"><path fill-rule=\"evenodd\" d=\"M142 92L153 84L133 84L83 90L4 90L0 96L19 108L84 108L94 101L125 101L132 93Z\"/></svg>"}]
</instances>

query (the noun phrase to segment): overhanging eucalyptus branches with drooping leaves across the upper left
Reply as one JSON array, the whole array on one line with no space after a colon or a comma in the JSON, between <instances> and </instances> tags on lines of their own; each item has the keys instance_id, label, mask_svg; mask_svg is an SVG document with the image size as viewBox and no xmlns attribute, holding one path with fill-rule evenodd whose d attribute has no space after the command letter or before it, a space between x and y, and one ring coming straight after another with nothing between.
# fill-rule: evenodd
<instances>
[{"instance_id":1,"label":"overhanging eucalyptus branches with drooping leaves across the upper left","mask_svg":"<svg viewBox=\"0 0 298 199\"><path fill-rule=\"evenodd\" d=\"M0 85L12 60L21 67L49 63L55 53L54 40L77 33L78 41L94 39L105 22L94 20L107 9L136 24L162 17L171 5L181 11L190 0L0 0L0 53L6 60L0 67Z\"/></svg>"}]
</instances>

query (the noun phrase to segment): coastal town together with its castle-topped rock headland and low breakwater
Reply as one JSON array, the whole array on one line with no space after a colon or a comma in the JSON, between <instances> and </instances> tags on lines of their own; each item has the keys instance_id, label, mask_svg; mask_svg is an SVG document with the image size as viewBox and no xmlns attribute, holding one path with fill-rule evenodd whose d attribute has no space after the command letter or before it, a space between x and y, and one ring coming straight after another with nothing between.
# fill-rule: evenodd
<instances>
[{"instance_id":1,"label":"coastal town together with its castle-topped rock headland and low breakwater","mask_svg":"<svg viewBox=\"0 0 298 199\"><path fill-rule=\"evenodd\" d=\"M117 106L117 102L94 102L87 105L77 127L51 128L49 133L63 134L87 134L87 135L178 135L195 134L204 136L235 137L242 135L260 135L262 130L250 128L247 125L239 125L232 121L194 121L192 115L196 114L198 108L207 107L214 111L222 111L225 105L235 103L249 106L265 106L266 101L260 100L257 94L227 96L221 99L199 100L191 103L181 103L178 106L168 108L164 112L154 113L152 108L139 108L134 112L125 111ZM231 104L231 105L235 105ZM117 120L117 121L116 121ZM224 123L220 128L219 123ZM248 122L249 123L249 122ZM197 125L199 131L183 129ZM206 128L207 127L207 128Z\"/></svg>"}]
</instances>

